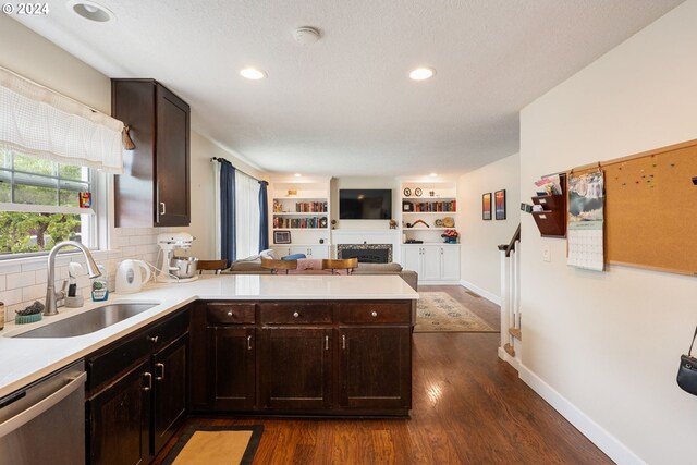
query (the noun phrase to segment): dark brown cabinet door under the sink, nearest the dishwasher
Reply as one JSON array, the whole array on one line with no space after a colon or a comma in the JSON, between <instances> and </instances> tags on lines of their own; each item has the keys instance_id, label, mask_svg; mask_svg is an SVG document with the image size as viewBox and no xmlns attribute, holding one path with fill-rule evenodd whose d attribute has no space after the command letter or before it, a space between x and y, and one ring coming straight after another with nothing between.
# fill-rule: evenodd
<instances>
[{"instance_id":1,"label":"dark brown cabinet door under the sink, nearest the dishwasher","mask_svg":"<svg viewBox=\"0 0 697 465\"><path fill-rule=\"evenodd\" d=\"M154 380L149 367L150 360L144 360L87 401L91 464L136 465L150 462L150 390Z\"/></svg>"}]
</instances>

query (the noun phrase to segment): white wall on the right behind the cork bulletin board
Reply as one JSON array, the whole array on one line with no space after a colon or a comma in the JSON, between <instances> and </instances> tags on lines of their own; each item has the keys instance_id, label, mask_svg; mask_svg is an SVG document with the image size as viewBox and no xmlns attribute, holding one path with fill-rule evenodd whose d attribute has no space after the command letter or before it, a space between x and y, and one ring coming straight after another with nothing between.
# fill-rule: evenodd
<instances>
[{"instance_id":1,"label":"white wall on the right behind the cork bulletin board","mask_svg":"<svg viewBox=\"0 0 697 465\"><path fill-rule=\"evenodd\" d=\"M688 0L522 111L524 199L541 174L697 138L696 24ZM521 377L619 463L695 463L697 399L675 375L697 279L570 268L529 216L522 246Z\"/></svg>"}]
</instances>

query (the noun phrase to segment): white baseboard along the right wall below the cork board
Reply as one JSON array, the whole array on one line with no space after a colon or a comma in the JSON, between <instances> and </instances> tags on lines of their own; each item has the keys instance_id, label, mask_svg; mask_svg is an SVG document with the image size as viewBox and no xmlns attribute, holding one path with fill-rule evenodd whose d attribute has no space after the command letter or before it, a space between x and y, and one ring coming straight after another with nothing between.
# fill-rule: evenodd
<instances>
[{"instance_id":1,"label":"white baseboard along the right wall below the cork board","mask_svg":"<svg viewBox=\"0 0 697 465\"><path fill-rule=\"evenodd\" d=\"M500 358L503 358L501 356L501 352L509 356L503 348L499 347ZM509 356L509 358L512 357ZM610 435L604 428L595 423L590 417L588 417L588 415L568 402L563 395L557 392L551 386L545 382L525 365L519 362L517 365L518 377L602 452L604 452L612 461L620 465L646 465L646 462L620 442L617 438Z\"/></svg>"}]
</instances>

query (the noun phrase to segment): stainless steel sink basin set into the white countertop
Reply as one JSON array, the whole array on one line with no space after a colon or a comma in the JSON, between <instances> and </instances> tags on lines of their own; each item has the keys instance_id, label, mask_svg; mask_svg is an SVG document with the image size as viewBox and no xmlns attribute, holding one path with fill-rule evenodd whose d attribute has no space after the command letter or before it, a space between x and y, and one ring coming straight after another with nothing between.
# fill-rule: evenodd
<instances>
[{"instance_id":1,"label":"stainless steel sink basin set into the white countertop","mask_svg":"<svg viewBox=\"0 0 697 465\"><path fill-rule=\"evenodd\" d=\"M84 314L65 318L42 326L32 331L14 335L14 338L73 338L99 331L126 318L134 317L158 304L154 303L123 303L109 304L97 307Z\"/></svg>"}]
</instances>

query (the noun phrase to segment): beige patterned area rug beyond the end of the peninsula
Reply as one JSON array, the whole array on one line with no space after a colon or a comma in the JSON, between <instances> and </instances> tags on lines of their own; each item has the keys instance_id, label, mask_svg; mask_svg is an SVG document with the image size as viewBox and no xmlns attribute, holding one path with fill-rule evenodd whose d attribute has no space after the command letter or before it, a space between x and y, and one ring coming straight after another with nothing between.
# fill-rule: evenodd
<instances>
[{"instance_id":1,"label":"beige patterned area rug beyond the end of the peninsula","mask_svg":"<svg viewBox=\"0 0 697 465\"><path fill-rule=\"evenodd\" d=\"M444 292L419 292L414 332L499 332Z\"/></svg>"}]
</instances>

